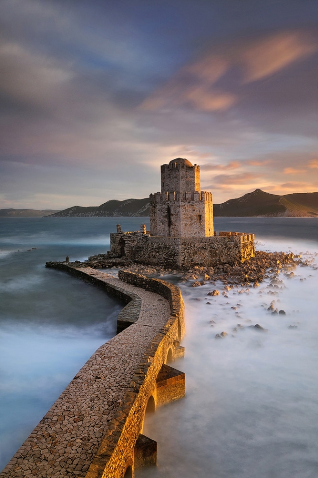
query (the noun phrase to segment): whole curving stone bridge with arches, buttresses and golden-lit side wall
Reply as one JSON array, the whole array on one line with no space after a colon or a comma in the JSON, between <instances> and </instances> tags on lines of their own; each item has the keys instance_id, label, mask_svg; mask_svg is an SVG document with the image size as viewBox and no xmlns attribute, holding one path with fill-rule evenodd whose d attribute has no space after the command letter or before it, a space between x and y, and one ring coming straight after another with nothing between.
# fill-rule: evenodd
<instances>
[{"instance_id":1,"label":"whole curving stone bridge with arches, buttresses and golden-lit side wall","mask_svg":"<svg viewBox=\"0 0 318 478\"><path fill-rule=\"evenodd\" d=\"M168 282L119 271L119 279L74 263L49 262L103 287L125 307L119 333L86 362L0 473L1 478L133 477L156 463L144 415L185 394L184 303Z\"/></svg>"}]
</instances>

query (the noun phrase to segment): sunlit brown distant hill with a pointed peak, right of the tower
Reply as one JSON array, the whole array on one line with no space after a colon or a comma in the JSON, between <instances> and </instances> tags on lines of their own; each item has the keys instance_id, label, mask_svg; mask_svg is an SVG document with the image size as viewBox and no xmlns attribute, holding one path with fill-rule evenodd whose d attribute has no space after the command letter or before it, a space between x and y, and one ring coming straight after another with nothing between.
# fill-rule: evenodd
<instances>
[{"instance_id":1,"label":"sunlit brown distant hill with a pointed peak, right of the tower","mask_svg":"<svg viewBox=\"0 0 318 478\"><path fill-rule=\"evenodd\" d=\"M214 204L213 211L214 216L314 217L318 216L318 192L278 196L256 189L241 198Z\"/></svg>"}]
</instances>

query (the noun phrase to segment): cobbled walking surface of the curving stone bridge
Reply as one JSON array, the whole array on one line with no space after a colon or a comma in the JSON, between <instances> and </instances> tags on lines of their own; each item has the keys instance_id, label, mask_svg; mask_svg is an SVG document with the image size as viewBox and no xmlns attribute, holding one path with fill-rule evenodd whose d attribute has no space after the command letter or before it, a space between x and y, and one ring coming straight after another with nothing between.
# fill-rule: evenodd
<instances>
[{"instance_id":1,"label":"cobbled walking surface of the curving stone bridge","mask_svg":"<svg viewBox=\"0 0 318 478\"><path fill-rule=\"evenodd\" d=\"M145 350L171 316L170 304L161 295L89 267L78 270L138 295L138 321L92 355L0 473L1 478L84 477Z\"/></svg>"}]
</instances>

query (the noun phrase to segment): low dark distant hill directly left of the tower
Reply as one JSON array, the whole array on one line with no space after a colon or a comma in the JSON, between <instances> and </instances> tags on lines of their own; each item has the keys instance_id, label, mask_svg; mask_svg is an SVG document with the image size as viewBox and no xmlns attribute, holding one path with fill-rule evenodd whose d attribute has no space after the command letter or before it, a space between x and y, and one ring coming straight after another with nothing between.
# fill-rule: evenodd
<instances>
[{"instance_id":1,"label":"low dark distant hill directly left of the tower","mask_svg":"<svg viewBox=\"0 0 318 478\"><path fill-rule=\"evenodd\" d=\"M73 206L49 217L140 217L149 216L149 198L111 199L100 206Z\"/></svg>"}]
</instances>

